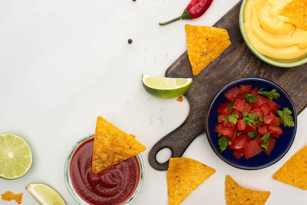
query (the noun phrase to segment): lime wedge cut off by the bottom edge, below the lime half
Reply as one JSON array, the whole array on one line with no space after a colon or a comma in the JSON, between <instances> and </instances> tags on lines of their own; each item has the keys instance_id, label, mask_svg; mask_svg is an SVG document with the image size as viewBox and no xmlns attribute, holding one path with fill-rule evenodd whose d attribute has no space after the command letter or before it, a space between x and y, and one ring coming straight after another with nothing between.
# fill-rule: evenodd
<instances>
[{"instance_id":1,"label":"lime wedge cut off by the bottom edge, below the lime half","mask_svg":"<svg viewBox=\"0 0 307 205\"><path fill-rule=\"evenodd\" d=\"M30 183L26 190L41 205L65 205L64 199L53 188L45 183Z\"/></svg>"}]
</instances>

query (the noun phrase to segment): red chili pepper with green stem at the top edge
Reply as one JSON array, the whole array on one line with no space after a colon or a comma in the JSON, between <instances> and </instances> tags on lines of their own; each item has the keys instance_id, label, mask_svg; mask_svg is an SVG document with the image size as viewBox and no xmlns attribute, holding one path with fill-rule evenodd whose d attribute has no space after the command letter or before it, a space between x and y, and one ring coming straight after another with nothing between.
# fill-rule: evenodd
<instances>
[{"instance_id":1,"label":"red chili pepper with green stem at the top edge","mask_svg":"<svg viewBox=\"0 0 307 205\"><path fill-rule=\"evenodd\" d=\"M177 22L180 19L194 19L202 16L208 8L211 6L213 0L192 0L187 8L184 10L183 14L177 18L169 20L165 23L159 23L160 26L165 26L167 24Z\"/></svg>"}]
</instances>

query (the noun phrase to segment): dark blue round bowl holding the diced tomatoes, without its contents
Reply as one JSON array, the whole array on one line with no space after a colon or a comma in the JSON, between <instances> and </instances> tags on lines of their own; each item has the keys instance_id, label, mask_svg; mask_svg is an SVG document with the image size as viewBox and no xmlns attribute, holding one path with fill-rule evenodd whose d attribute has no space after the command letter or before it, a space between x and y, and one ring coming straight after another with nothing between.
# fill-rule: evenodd
<instances>
[{"instance_id":1,"label":"dark blue round bowl holding the diced tomatoes, without its contents","mask_svg":"<svg viewBox=\"0 0 307 205\"><path fill-rule=\"evenodd\" d=\"M278 100L274 99L274 101L280 105L280 110L287 107L292 111L292 117L295 126L285 128L283 125L281 125L283 133L280 135L279 139L276 140L275 147L272 150L270 156L264 152L261 152L260 154L249 159L246 159L244 156L240 159L237 159L232 155L233 150L226 149L221 153L220 149L218 148L218 133L214 132L215 124L217 124L217 108L220 104L226 103L226 99L223 96L224 93L231 88L239 87L241 84L252 85L252 88L264 88L264 90L276 89L280 93L280 97ZM254 77L238 79L225 86L212 99L206 118L206 134L212 150L218 157L220 157L229 165L244 170L263 169L273 165L278 160L280 160L292 146L296 133L296 126L296 111L288 94L275 83L266 79Z\"/></svg>"}]
</instances>

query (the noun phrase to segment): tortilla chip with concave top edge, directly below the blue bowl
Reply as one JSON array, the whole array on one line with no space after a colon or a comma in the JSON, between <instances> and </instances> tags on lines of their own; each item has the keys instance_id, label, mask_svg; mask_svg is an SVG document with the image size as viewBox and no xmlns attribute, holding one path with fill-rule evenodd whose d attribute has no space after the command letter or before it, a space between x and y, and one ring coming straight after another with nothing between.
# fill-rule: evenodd
<instances>
[{"instance_id":1,"label":"tortilla chip with concave top edge, directly below the blue bowl","mask_svg":"<svg viewBox=\"0 0 307 205\"><path fill-rule=\"evenodd\" d=\"M227 205L264 205L271 192L254 191L239 186L231 176L225 178L225 197Z\"/></svg>"}]
</instances>

